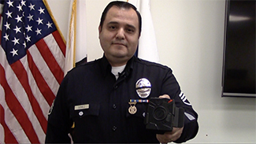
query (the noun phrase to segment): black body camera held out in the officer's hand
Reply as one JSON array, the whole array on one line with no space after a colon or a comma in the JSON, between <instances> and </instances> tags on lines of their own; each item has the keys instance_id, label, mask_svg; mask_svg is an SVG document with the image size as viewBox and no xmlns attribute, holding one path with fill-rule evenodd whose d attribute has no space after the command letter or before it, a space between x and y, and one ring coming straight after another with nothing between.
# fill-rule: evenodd
<instances>
[{"instance_id":1,"label":"black body camera held out in the officer's hand","mask_svg":"<svg viewBox=\"0 0 256 144\"><path fill-rule=\"evenodd\" d=\"M173 127L184 126L184 109L177 108L173 99L150 98L145 123L157 134L173 131Z\"/></svg>"}]
</instances>

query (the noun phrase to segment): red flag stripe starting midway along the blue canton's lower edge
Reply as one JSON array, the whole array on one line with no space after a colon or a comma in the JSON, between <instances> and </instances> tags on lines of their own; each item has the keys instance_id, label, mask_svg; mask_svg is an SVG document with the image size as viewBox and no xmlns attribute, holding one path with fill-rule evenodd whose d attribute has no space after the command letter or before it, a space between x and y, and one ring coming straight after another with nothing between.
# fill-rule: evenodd
<instances>
[{"instance_id":1,"label":"red flag stripe starting midway along the blue canton's lower edge","mask_svg":"<svg viewBox=\"0 0 256 144\"><path fill-rule=\"evenodd\" d=\"M50 87L46 83L45 79L43 79L43 76L39 72L39 69L35 65L35 62L32 60L32 55L29 53L29 50L27 50L27 56L28 56L28 66L35 79L35 83L39 87L39 90L43 94L43 97L46 99L46 102L48 103L48 105L51 105L52 102L54 101L55 95L52 92L52 90L50 90Z\"/></svg>"}]
</instances>

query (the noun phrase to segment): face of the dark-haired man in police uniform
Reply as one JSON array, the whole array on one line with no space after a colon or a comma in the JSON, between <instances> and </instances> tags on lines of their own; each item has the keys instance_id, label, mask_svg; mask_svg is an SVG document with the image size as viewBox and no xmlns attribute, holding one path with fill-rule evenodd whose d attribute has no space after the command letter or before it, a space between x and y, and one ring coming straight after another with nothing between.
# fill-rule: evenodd
<instances>
[{"instance_id":1,"label":"face of the dark-haired man in police uniform","mask_svg":"<svg viewBox=\"0 0 256 144\"><path fill-rule=\"evenodd\" d=\"M113 6L98 27L102 50L110 65L121 66L135 54L139 42L139 20L134 9Z\"/></svg>"}]
</instances>

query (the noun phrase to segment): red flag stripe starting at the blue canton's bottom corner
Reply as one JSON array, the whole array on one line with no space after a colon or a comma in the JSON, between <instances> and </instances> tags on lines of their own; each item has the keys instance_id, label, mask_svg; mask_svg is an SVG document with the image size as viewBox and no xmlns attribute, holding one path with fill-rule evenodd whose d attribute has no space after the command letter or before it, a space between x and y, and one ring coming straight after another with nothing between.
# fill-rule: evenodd
<instances>
[{"instance_id":1,"label":"red flag stripe starting at the blue canton's bottom corner","mask_svg":"<svg viewBox=\"0 0 256 144\"><path fill-rule=\"evenodd\" d=\"M24 87L24 90L28 94L28 100L32 105L33 112L39 120L43 131L46 133L47 120L45 116L43 116L43 111L42 109L40 109L39 103L36 101L32 93L32 89L28 83L28 73L26 72L20 61L16 61L11 65L11 67L13 68L13 72L16 74L17 78L20 80L22 87Z\"/></svg>"}]
</instances>

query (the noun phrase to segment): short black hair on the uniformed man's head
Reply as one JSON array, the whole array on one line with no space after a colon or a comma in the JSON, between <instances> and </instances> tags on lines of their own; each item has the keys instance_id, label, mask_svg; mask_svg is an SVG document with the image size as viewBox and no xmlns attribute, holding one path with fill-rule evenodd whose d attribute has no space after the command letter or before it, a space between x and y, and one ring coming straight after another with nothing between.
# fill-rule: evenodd
<instances>
[{"instance_id":1,"label":"short black hair on the uniformed man's head","mask_svg":"<svg viewBox=\"0 0 256 144\"><path fill-rule=\"evenodd\" d=\"M141 27L142 27L142 18L141 15L139 13L139 11L137 10L137 8L135 6L133 6L131 3L129 2L122 2L122 1L113 1L113 2L109 2L109 4L106 6L106 8L103 10L102 13L102 17L101 17L101 21L99 23L100 27L102 28L104 20L106 19L106 13L108 13L109 9L112 6L117 6L118 8L124 8L124 9L134 9L135 12L137 13L138 16L138 20L139 20L139 35L141 32Z\"/></svg>"}]
</instances>

